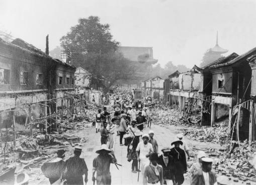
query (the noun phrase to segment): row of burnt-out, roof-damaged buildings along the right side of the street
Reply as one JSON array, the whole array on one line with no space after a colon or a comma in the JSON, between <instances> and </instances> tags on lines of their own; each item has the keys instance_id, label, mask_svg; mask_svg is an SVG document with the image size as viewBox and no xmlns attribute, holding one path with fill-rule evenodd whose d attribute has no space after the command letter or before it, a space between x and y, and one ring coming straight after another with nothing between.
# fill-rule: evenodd
<instances>
[{"instance_id":1,"label":"row of burnt-out, roof-damaged buildings along the right side of the street","mask_svg":"<svg viewBox=\"0 0 256 185\"><path fill-rule=\"evenodd\" d=\"M201 114L201 125L213 126L228 117L234 140L256 139L256 48L239 56L232 53L202 68L175 73L164 81L164 100L186 114Z\"/></svg>"}]
</instances>

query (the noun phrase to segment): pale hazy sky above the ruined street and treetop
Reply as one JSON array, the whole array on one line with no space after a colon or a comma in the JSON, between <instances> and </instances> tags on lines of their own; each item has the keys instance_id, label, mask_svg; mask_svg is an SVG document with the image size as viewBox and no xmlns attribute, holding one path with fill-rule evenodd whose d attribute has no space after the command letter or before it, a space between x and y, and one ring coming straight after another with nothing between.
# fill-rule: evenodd
<instances>
[{"instance_id":1,"label":"pale hazy sky above the ruined street and treetop","mask_svg":"<svg viewBox=\"0 0 256 185\"><path fill-rule=\"evenodd\" d=\"M49 34L52 50L79 18L98 16L121 46L153 47L161 66L191 68L215 46L217 31L225 55L256 47L255 13L253 0L0 0L0 34L42 51Z\"/></svg>"}]
</instances>

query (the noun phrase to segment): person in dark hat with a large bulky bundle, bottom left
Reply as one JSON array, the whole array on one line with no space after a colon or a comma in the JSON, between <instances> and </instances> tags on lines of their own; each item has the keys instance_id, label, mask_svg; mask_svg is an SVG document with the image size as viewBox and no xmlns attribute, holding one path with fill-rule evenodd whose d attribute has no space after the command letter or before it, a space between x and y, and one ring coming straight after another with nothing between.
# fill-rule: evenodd
<instances>
[{"instance_id":1,"label":"person in dark hat with a large bulky bundle, bottom left","mask_svg":"<svg viewBox=\"0 0 256 185\"><path fill-rule=\"evenodd\" d=\"M49 178L50 184L53 184L58 179L64 177L64 170L66 168L65 161L65 150L60 149L57 151L57 158L54 158L46 163L44 163L41 167L44 175Z\"/></svg>"}]
</instances>

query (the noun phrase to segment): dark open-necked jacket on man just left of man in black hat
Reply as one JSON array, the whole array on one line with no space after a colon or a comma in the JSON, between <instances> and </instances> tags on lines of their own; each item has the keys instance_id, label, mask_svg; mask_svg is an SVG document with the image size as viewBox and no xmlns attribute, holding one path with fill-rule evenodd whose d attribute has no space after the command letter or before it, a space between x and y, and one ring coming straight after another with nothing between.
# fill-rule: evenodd
<instances>
[{"instance_id":1,"label":"dark open-necked jacket on man just left of man in black hat","mask_svg":"<svg viewBox=\"0 0 256 185\"><path fill-rule=\"evenodd\" d=\"M167 166L163 161L163 155L160 155L157 161L157 163L162 166L163 179L173 179L175 174L174 158L172 155L168 155L168 158Z\"/></svg>"}]
</instances>

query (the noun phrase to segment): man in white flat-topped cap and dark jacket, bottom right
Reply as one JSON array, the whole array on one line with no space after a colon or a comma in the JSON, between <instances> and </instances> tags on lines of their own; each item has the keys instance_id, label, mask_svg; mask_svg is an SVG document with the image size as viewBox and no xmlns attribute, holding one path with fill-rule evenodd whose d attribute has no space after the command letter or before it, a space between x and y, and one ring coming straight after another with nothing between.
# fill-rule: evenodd
<instances>
[{"instance_id":1,"label":"man in white flat-topped cap and dark jacket, bottom right","mask_svg":"<svg viewBox=\"0 0 256 185\"><path fill-rule=\"evenodd\" d=\"M216 175L212 170L213 159L209 157L202 158L202 169L192 178L191 185L214 185L217 183Z\"/></svg>"}]
</instances>

